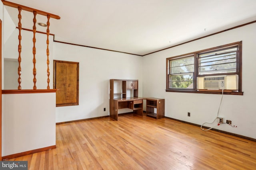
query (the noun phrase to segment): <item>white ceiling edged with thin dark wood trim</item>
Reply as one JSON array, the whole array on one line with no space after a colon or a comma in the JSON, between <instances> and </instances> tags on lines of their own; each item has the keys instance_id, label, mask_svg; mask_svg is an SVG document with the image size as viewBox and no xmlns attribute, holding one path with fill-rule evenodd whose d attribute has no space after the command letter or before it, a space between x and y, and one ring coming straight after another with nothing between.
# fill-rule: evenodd
<instances>
[{"instance_id":1,"label":"white ceiling edged with thin dark wood trim","mask_svg":"<svg viewBox=\"0 0 256 170\"><path fill-rule=\"evenodd\" d=\"M55 41L146 55L256 20L256 0L8 0L60 16ZM6 6L18 26L18 9ZM37 15L37 22L46 23ZM22 11L22 27L33 15ZM37 25L38 31L46 27Z\"/></svg>"}]
</instances>

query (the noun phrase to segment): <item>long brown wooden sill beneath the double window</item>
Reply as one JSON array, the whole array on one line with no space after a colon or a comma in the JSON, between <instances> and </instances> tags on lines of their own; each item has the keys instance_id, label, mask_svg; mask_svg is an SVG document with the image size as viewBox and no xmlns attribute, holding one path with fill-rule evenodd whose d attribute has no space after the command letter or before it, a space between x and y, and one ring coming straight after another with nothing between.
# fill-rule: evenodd
<instances>
[{"instance_id":1,"label":"long brown wooden sill beneath the double window","mask_svg":"<svg viewBox=\"0 0 256 170\"><path fill-rule=\"evenodd\" d=\"M182 92L182 93L222 94L222 90L170 90L170 89L166 89L165 91L166 92ZM244 95L244 92L224 90L223 94Z\"/></svg>"}]
</instances>

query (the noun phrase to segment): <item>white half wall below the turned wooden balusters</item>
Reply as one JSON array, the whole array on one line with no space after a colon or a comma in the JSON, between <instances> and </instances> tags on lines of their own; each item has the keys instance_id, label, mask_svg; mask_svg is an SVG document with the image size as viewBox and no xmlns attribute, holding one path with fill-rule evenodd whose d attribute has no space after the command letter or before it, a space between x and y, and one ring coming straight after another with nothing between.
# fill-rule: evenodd
<instances>
[{"instance_id":1,"label":"white half wall below the turned wooden balusters","mask_svg":"<svg viewBox=\"0 0 256 170\"><path fill-rule=\"evenodd\" d=\"M2 156L56 145L55 108L55 92L2 94Z\"/></svg>"}]
</instances>

